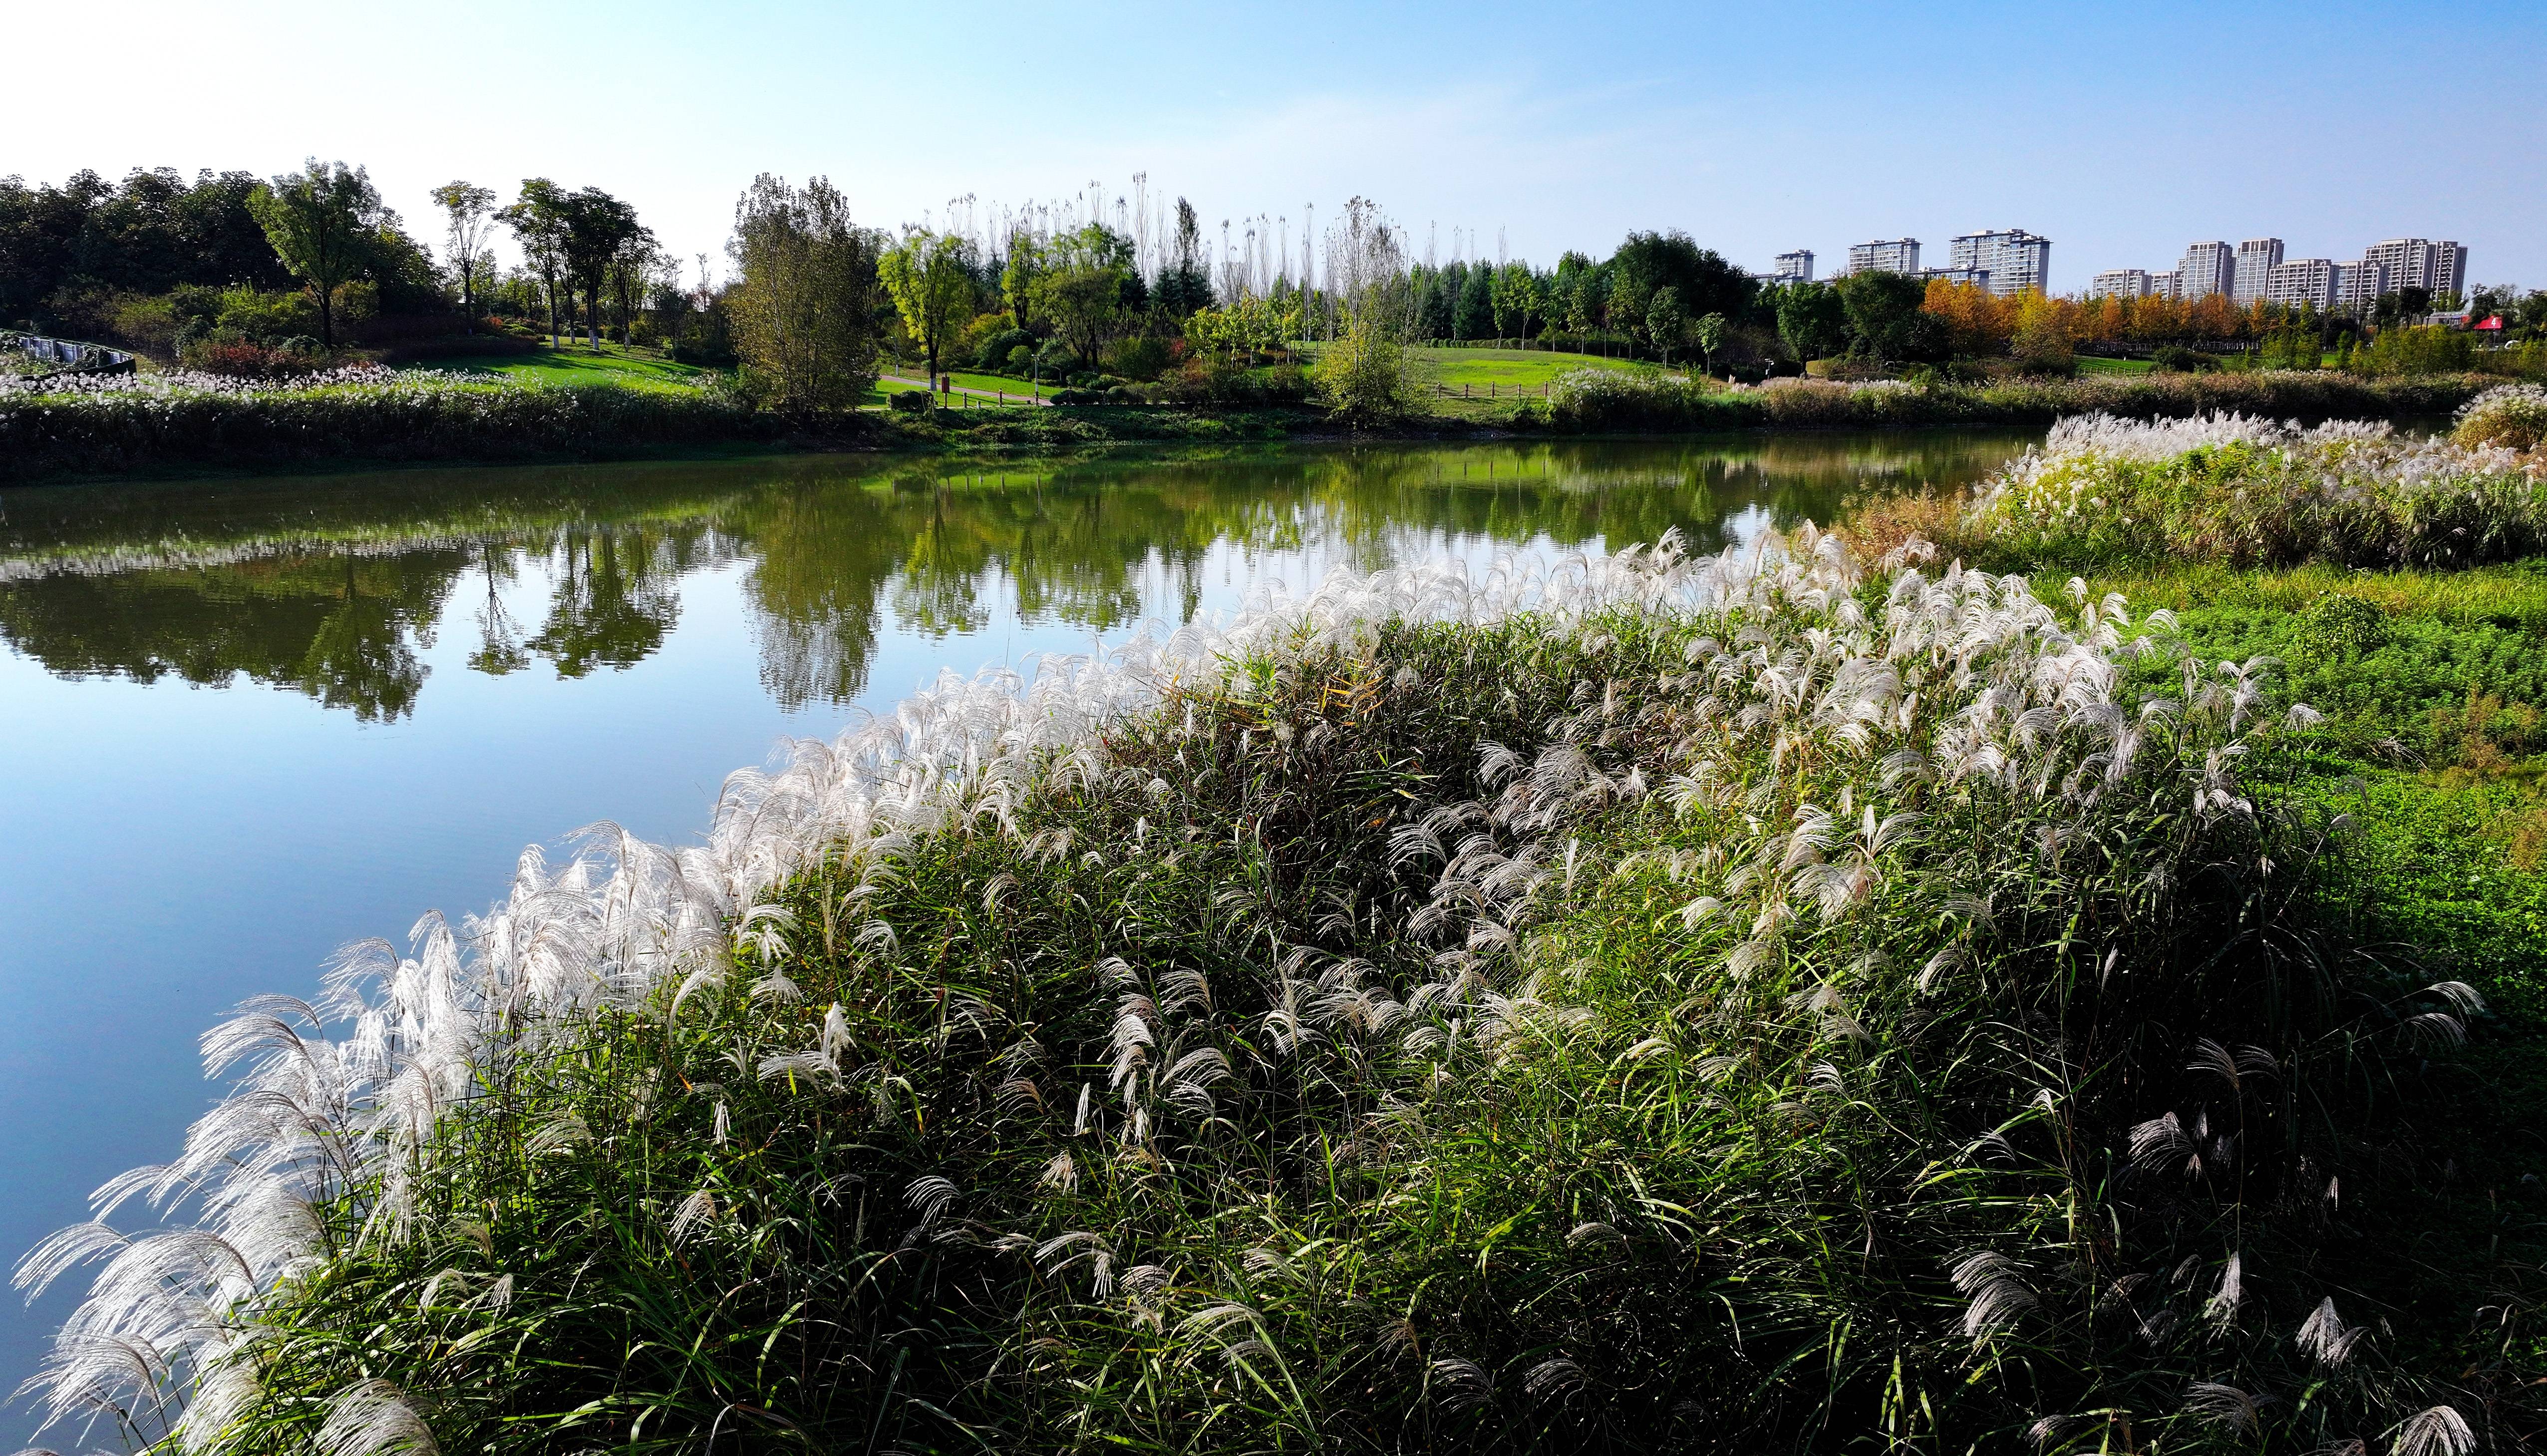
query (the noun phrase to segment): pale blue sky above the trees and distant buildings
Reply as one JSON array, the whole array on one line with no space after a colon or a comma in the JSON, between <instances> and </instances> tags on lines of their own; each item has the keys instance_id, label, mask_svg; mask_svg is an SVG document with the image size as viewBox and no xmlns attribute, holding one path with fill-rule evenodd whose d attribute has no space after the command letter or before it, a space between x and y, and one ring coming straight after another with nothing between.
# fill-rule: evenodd
<instances>
[{"instance_id":1,"label":"pale blue sky above the trees and distant buildings","mask_svg":"<svg viewBox=\"0 0 2547 1456\"><path fill-rule=\"evenodd\" d=\"M2053 288L2188 239L2292 257L2455 237L2547 285L2547 5L31 5L13 51L102 112L0 171L372 168L604 186L683 255L756 171L866 221L1090 181L1294 221L1378 199L1416 239L1605 252L1681 227L1750 267L2027 227ZM1215 229L1217 232L1217 229Z\"/></svg>"}]
</instances>

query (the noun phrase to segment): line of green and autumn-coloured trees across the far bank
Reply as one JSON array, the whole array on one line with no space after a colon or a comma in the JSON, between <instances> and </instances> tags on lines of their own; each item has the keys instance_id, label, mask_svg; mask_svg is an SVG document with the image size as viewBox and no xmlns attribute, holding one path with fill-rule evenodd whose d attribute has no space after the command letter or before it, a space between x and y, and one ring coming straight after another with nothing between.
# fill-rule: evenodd
<instances>
[{"instance_id":1,"label":"line of green and autumn-coloured trees across the far bank","mask_svg":"<svg viewBox=\"0 0 2547 1456\"><path fill-rule=\"evenodd\" d=\"M1368 321L1393 344L1521 344L1696 364L1735 377L1811 359L2068 372L2078 351L2236 346L2282 359L2366 349L2432 300L2402 290L2356 318L2226 298L2050 298L1890 272L1763 283L1686 232L1630 232L1610 257L1414 262L1406 234L1355 199L1330 232L1322 283L1289 270L1215 277L1195 206L1177 199L1167 247L1144 267L1103 221L1006 237L881 229L851 219L828 181L762 176L736 206L728 283L675 260L624 199L525 178L512 196L471 181L433 188L441 257L410 237L359 165L298 173L92 171L61 186L0 178L0 323L61 328L191 364L318 359L346 336L471 331L497 318L599 349L660 344L675 359L741 364L746 389L828 405L871 387L881 359L1077 389L1144 384L1167 397L1299 397L1299 344ZM1350 234L1350 237L1347 237ZM499 267L509 239L517 267ZM1340 285L1335 247L1386 262ZM1358 239L1358 242L1355 242ZM1347 247L1347 249L1350 249ZM1368 303L1368 308L1363 308ZM2481 290L2511 336L2547 333L2547 295ZM395 328L392 328L395 326ZM866 379L866 384L851 382Z\"/></svg>"}]
</instances>

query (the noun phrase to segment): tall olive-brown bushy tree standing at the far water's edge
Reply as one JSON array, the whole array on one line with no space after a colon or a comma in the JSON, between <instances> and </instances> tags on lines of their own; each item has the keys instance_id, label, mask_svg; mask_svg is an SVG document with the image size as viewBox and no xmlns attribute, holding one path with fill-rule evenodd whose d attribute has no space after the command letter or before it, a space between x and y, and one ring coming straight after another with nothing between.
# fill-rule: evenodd
<instances>
[{"instance_id":1,"label":"tall olive-brown bushy tree standing at the far water's edge","mask_svg":"<svg viewBox=\"0 0 2547 1456\"><path fill-rule=\"evenodd\" d=\"M846 407L876 384L876 234L830 181L751 178L726 252L741 272L734 349L772 405Z\"/></svg>"}]
</instances>

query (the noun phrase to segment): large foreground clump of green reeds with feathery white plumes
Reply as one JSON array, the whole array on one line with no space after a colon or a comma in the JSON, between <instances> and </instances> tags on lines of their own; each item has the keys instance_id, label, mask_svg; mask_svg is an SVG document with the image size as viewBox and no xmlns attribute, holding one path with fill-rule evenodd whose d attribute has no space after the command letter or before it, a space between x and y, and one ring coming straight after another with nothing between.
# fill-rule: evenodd
<instances>
[{"instance_id":1,"label":"large foreground clump of green reeds with feathery white plumes","mask_svg":"<svg viewBox=\"0 0 2547 1456\"><path fill-rule=\"evenodd\" d=\"M2167 644L1803 529L945 677L209 1033L239 1089L20 1268L97 1265L38 1392L166 1451L2465 1456L2486 1296L2387 1252L2476 995L2310 893L2254 764L2313 713L2134 692Z\"/></svg>"}]
</instances>

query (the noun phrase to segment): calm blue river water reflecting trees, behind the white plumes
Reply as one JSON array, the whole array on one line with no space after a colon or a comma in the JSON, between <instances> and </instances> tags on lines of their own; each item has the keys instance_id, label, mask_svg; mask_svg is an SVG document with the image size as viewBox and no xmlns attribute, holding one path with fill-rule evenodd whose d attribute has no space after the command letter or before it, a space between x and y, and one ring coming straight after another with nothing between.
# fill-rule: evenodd
<instances>
[{"instance_id":1,"label":"calm blue river water reflecting trees, behind the white plumes","mask_svg":"<svg viewBox=\"0 0 2547 1456\"><path fill-rule=\"evenodd\" d=\"M940 667L1457 552L1699 547L2017 435L790 458L0 491L0 1255L166 1161L194 1039ZM122 1217L135 1217L127 1207ZM0 1392L66 1308L5 1301ZM0 1451L31 1420L0 1415Z\"/></svg>"}]
</instances>

